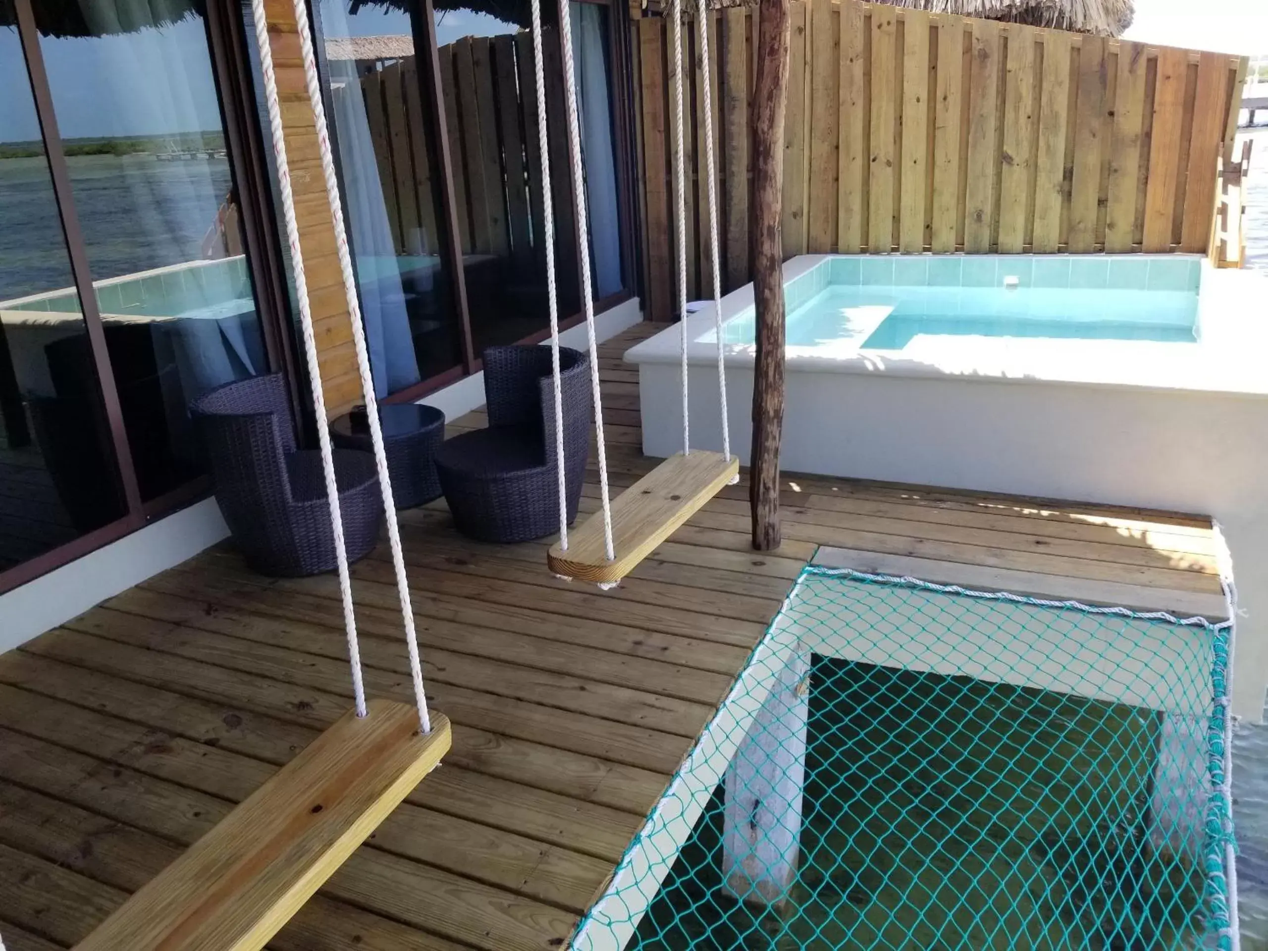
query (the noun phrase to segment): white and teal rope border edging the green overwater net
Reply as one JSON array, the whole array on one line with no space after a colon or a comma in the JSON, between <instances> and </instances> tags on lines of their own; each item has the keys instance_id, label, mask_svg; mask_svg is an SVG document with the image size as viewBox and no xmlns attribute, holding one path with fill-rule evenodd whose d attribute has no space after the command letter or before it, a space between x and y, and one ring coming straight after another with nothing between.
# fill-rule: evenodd
<instances>
[{"instance_id":1,"label":"white and teal rope border edging the green overwater net","mask_svg":"<svg viewBox=\"0 0 1268 951\"><path fill-rule=\"evenodd\" d=\"M932 581L923 581L912 576L879 574L857 571L855 568L837 568L813 563L805 564L801 568L796 581L794 581L787 595L784 597L780 610L771 619L766 631L749 652L748 658L744 661L743 667L735 677L735 682L732 685L732 689L718 705L713 716L709 718L709 721L701 730L700 737L692 744L687 756L670 779L670 784L666 786L664 792L661 794L661 799L653 806L638 833L635 833L634 838L630 839L630 843L625 847L625 851L621 853L620 861L609 876L604 890L586 910L586 914L577 922L577 927L568 940L568 948L572 948L572 951L597 951L600 947L625 947L629 943L629 938L631 938L634 933L633 929L621 945L605 945L597 942L597 937L592 929L607 929L615 924L606 912L600 910L601 905L606 899L616 898L624 890L624 886L619 885L619 883L629 876L642 843L650 838L661 827L673 822L676 818L667 814L666 806L670 803L676 801L683 785L692 779L690 776L690 771L694 761L701 752L704 752L704 747L706 744L714 743L711 739L714 725L723 716L724 711L729 711L730 705L734 704L742 694L747 692L744 675L754 668L758 656L770 647L770 642L776 635L780 623L787 616L790 609L796 604L798 596L800 595L805 581L812 577L839 578L843 581L885 585L890 587L902 587L913 591L929 591L983 601L1002 601L1018 605L1032 605L1036 607L1073 610L1088 615L1111 615L1130 620L1163 621L1165 624L1173 624L1182 628L1197 628L1208 631L1212 638L1211 648L1213 657L1211 680L1208 685L1211 689L1206 749L1208 789L1203 823L1203 869L1206 872L1206 900L1210 909L1208 933L1215 933L1217 936L1219 951L1240 951L1241 936L1238 921L1236 871L1238 848L1232 828L1232 713L1230 700L1236 630L1231 619L1236 618L1238 596L1236 587L1234 586L1231 578L1221 578L1225 601L1227 604L1227 616L1230 620L1211 621L1206 618L1196 615L1192 618L1178 618L1169 611L1135 611L1129 607L1088 605L1073 598L1060 600L1033 597L1030 595L1014 595L1009 591L980 591L975 588L966 588L961 585L941 585ZM725 775L725 771L723 775ZM695 790L694 795L699 798L701 792L704 792L706 798L713 786L715 786L720 780L721 776L716 777L713 784L704 784L705 789ZM643 913L645 913L650 907L650 902L654 900L656 894L659 893L659 883L663 881L664 875L668 874L676 858L677 855L668 858L662 857L659 860L659 866L663 866L663 871L661 871L659 866L657 867L657 871L659 872L657 879L658 884L656 890L652 893L648 904L643 908Z\"/></svg>"}]
</instances>

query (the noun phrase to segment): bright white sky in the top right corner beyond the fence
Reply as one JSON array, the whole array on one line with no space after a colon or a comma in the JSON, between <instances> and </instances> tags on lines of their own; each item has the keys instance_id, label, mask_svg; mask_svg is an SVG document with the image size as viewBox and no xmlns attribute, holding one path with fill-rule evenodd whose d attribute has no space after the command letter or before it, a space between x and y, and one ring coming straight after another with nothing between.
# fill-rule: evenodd
<instances>
[{"instance_id":1,"label":"bright white sky in the top right corner beyond the fence","mask_svg":"<svg viewBox=\"0 0 1268 951\"><path fill-rule=\"evenodd\" d=\"M1136 0L1123 38L1268 56L1268 0Z\"/></svg>"}]
</instances>

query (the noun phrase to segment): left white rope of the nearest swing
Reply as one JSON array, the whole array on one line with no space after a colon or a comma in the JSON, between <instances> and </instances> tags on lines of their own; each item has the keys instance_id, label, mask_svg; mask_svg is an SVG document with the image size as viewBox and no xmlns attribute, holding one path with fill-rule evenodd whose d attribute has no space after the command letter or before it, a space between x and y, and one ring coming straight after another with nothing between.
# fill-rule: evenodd
<instances>
[{"instance_id":1,"label":"left white rope of the nearest swing","mask_svg":"<svg viewBox=\"0 0 1268 951\"><path fill-rule=\"evenodd\" d=\"M264 0L251 0L255 16L255 42L260 52L260 74L264 77L264 100L269 110L269 131L273 134L273 152L278 164L278 189L281 193L281 212L290 243L290 268L295 278L295 298L299 302L299 326L304 339L304 356L308 379L312 380L313 411L317 415L317 441L321 448L322 474L326 479L326 500L330 503L330 522L335 536L335 562L339 567L339 591L344 601L344 629L347 633L347 659L353 668L353 696L356 715L365 716L365 685L361 678L361 652L356 643L356 620L353 616L353 583L347 576L347 553L344 550L344 520L339 512L339 487L335 482L335 456L326 429L326 398L321 392L321 368L317 364L317 341L313 337L312 311L308 306L308 281L304 278L304 257L299 249L299 224L295 221L295 199L290 191L290 166L287 164L287 143L281 131L281 107L278 103L278 80L273 72L273 48L269 46L269 25L265 20Z\"/></svg>"}]
</instances>

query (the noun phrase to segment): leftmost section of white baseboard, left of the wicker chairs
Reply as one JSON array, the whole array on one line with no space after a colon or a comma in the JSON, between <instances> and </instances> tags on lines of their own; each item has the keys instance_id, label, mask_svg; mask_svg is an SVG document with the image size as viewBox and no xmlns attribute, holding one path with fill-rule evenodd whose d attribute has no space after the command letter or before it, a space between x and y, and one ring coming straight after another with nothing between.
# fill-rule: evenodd
<instances>
[{"instance_id":1,"label":"leftmost section of white baseboard, left of the wicker chairs","mask_svg":"<svg viewBox=\"0 0 1268 951\"><path fill-rule=\"evenodd\" d=\"M205 498L0 595L0 653L193 558L228 534L216 500Z\"/></svg>"}]
</instances>

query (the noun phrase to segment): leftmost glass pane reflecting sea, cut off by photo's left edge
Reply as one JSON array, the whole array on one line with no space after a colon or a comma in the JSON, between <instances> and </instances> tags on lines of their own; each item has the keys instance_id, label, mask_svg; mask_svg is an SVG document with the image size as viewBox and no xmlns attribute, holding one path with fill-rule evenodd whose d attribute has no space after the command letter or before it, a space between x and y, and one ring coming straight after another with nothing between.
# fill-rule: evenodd
<instances>
[{"instance_id":1,"label":"leftmost glass pane reflecting sea, cut off by photo's left edge","mask_svg":"<svg viewBox=\"0 0 1268 951\"><path fill-rule=\"evenodd\" d=\"M0 571L124 514L18 33L0 27Z\"/></svg>"}]
</instances>

